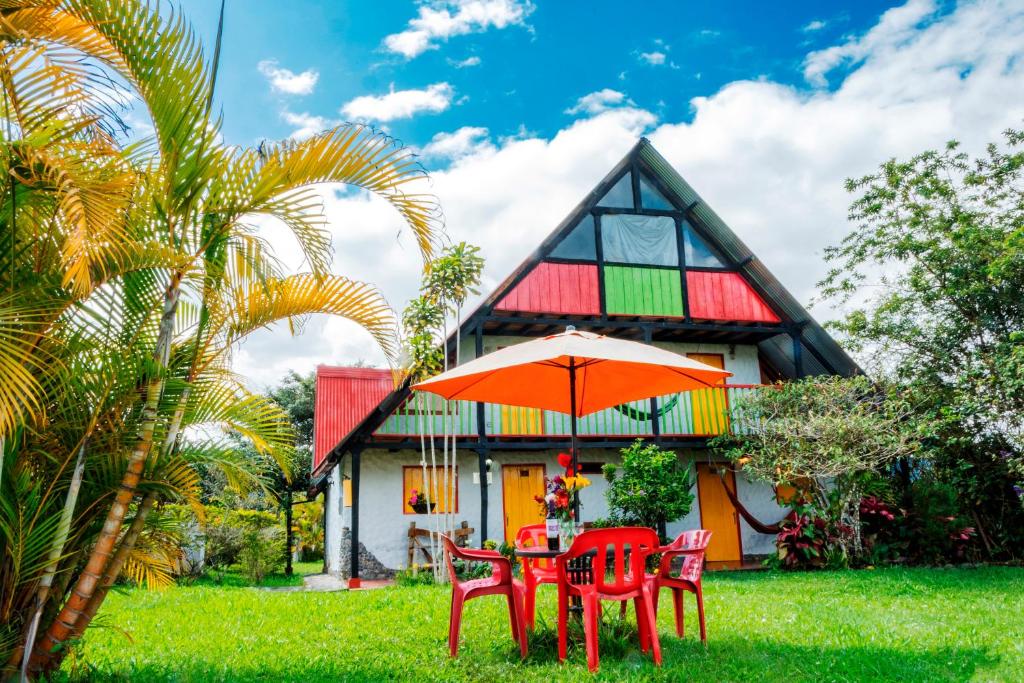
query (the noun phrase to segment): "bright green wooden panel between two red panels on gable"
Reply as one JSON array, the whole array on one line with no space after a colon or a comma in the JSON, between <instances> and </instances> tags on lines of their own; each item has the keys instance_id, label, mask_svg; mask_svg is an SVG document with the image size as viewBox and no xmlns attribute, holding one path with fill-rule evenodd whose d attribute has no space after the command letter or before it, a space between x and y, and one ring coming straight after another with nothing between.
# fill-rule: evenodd
<instances>
[{"instance_id":1,"label":"bright green wooden panel between two red panels on gable","mask_svg":"<svg viewBox=\"0 0 1024 683\"><path fill-rule=\"evenodd\" d=\"M604 302L609 315L682 317L679 270L606 265Z\"/></svg>"}]
</instances>

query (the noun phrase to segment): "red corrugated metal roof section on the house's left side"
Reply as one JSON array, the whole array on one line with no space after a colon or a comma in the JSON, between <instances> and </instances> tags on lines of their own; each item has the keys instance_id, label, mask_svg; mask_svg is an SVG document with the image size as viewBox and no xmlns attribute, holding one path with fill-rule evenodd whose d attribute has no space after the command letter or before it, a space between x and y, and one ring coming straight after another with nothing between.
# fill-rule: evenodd
<instances>
[{"instance_id":1,"label":"red corrugated metal roof section on the house's left side","mask_svg":"<svg viewBox=\"0 0 1024 683\"><path fill-rule=\"evenodd\" d=\"M316 367L313 470L394 388L390 370Z\"/></svg>"}]
</instances>

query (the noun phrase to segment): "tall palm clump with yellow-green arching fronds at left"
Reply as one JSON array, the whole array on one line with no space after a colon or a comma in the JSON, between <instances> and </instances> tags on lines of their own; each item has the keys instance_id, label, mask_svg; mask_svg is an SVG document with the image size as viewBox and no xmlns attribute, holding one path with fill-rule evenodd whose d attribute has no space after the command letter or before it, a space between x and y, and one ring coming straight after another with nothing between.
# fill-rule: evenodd
<instances>
[{"instance_id":1,"label":"tall palm clump with yellow-green arching fronds at left","mask_svg":"<svg viewBox=\"0 0 1024 683\"><path fill-rule=\"evenodd\" d=\"M315 185L385 199L425 259L438 238L433 199L404 191L422 170L376 131L225 146L216 62L180 15L137 0L0 8L0 659L28 642L33 672L58 664L139 566L150 512L193 498L196 463L247 478L229 447L186 427L223 426L287 460L287 417L230 373L242 338L325 312L396 353L380 294L330 272ZM137 97L151 137L119 142L112 84ZM308 272L280 272L261 214L288 225Z\"/></svg>"}]
</instances>

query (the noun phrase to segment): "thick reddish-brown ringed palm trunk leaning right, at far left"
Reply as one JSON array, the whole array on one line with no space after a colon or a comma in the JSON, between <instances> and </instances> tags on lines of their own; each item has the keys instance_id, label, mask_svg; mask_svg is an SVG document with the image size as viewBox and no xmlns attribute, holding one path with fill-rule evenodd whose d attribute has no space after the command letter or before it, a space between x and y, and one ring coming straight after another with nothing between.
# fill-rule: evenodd
<instances>
[{"instance_id":1,"label":"thick reddish-brown ringed palm trunk leaning right, at far left","mask_svg":"<svg viewBox=\"0 0 1024 683\"><path fill-rule=\"evenodd\" d=\"M76 632L79 617L100 586L106 566L114 556L114 548L118 538L121 536L121 527L124 525L125 517L135 498L135 489L142 479L142 471L148 459L150 451L153 449L154 434L157 429L157 419L159 412L160 396L164 389L164 369L167 368L171 354L171 340L174 334L174 314L177 310L178 298L181 293L181 273L175 272L171 275L171 282L167 286L164 296L164 311L160 321L160 333L157 337L157 348L154 352L156 361L155 375L150 381L145 392L145 404L142 409L142 426L139 431L138 440L128 459L128 467L121 478L121 485L114 498L114 503L106 514L106 520L99 532L89 554L89 560L82 569L78 582L75 585L68 602L65 603L60 613L50 624L43 639L37 643L35 652L32 655L30 668L32 671L40 671L47 666L51 658L51 652L60 649L68 638Z\"/></svg>"}]
</instances>

